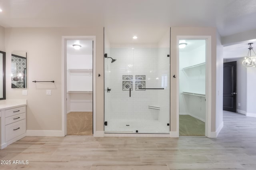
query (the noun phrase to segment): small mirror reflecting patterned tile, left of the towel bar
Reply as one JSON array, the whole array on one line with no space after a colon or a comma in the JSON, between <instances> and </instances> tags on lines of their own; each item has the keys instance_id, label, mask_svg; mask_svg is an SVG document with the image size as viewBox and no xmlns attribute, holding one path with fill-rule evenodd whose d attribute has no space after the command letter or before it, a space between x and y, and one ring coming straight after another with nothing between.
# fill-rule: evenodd
<instances>
[{"instance_id":1,"label":"small mirror reflecting patterned tile, left of the towel bar","mask_svg":"<svg viewBox=\"0 0 256 170\"><path fill-rule=\"evenodd\" d=\"M27 88L27 53L25 51L12 51L11 72L12 88Z\"/></svg>"}]
</instances>

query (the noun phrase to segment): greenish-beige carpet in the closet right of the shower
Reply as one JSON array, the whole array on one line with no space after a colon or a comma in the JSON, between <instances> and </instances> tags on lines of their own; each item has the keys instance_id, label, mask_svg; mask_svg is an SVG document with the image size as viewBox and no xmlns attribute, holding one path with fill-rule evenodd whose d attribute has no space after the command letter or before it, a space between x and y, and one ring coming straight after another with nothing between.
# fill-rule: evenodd
<instances>
[{"instance_id":1,"label":"greenish-beige carpet in the closet right of the shower","mask_svg":"<svg viewBox=\"0 0 256 170\"><path fill-rule=\"evenodd\" d=\"M180 136L205 136L205 123L190 115L180 115Z\"/></svg>"}]
</instances>

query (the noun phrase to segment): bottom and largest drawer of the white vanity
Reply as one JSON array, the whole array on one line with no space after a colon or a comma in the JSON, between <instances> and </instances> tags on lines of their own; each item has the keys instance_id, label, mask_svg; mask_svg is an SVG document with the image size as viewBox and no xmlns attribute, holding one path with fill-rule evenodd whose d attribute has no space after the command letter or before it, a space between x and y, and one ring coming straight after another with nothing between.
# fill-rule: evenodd
<instances>
[{"instance_id":1,"label":"bottom and largest drawer of the white vanity","mask_svg":"<svg viewBox=\"0 0 256 170\"><path fill-rule=\"evenodd\" d=\"M26 119L5 126L5 142L26 132Z\"/></svg>"}]
</instances>

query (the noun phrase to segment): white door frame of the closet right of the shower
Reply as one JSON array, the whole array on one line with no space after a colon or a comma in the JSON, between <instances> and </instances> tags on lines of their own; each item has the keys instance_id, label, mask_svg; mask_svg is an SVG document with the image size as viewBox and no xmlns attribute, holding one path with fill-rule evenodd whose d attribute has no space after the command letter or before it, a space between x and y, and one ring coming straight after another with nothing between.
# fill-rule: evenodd
<instances>
[{"instance_id":1,"label":"white door frame of the closet right of the shower","mask_svg":"<svg viewBox=\"0 0 256 170\"><path fill-rule=\"evenodd\" d=\"M178 48L177 50L177 65L176 65L176 74L177 74L177 78L179 78L179 41L180 40L206 40L206 58L205 58L205 63L206 63L206 82L205 82L205 99L206 99L206 117L205 117L205 136L210 138L211 137L211 109L212 109L212 84L211 84L211 79L212 79L212 65L211 65L211 55L212 55L212 37L211 36L177 36L176 38L176 46ZM176 100L177 100L177 109L176 109L176 129L177 129L177 133L179 136L179 119L180 119L180 85L179 85L179 81L176 81L176 85L177 85L177 91L176 91Z\"/></svg>"}]
</instances>

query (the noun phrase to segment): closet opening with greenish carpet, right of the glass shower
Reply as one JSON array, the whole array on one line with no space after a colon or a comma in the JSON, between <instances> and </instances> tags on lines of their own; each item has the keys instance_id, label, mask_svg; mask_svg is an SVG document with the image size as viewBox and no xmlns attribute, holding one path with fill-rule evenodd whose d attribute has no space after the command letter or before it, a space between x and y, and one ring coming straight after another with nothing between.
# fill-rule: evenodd
<instances>
[{"instance_id":1,"label":"closet opening with greenish carpet, right of the glass shower","mask_svg":"<svg viewBox=\"0 0 256 170\"><path fill-rule=\"evenodd\" d=\"M205 136L206 40L179 44L179 135Z\"/></svg>"}]
</instances>

